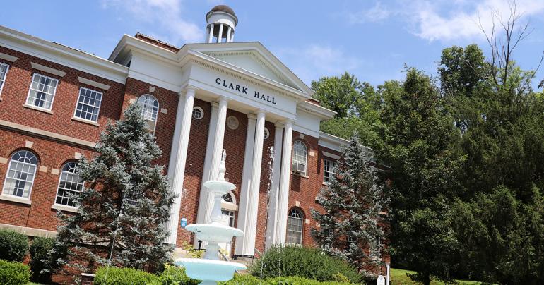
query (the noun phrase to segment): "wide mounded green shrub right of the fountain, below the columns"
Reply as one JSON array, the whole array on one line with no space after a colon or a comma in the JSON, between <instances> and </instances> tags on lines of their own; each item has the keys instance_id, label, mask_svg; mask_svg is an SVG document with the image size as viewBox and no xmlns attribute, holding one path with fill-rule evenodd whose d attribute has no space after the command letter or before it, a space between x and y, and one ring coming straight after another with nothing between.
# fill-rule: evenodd
<instances>
[{"instance_id":1,"label":"wide mounded green shrub right of the fountain, below the columns","mask_svg":"<svg viewBox=\"0 0 544 285\"><path fill-rule=\"evenodd\" d=\"M263 279L297 276L317 281L337 281L338 273L353 283L362 279L357 269L347 262L326 255L318 248L297 245L278 245L269 248L261 258L249 266L248 272L260 277L261 265Z\"/></svg>"}]
</instances>

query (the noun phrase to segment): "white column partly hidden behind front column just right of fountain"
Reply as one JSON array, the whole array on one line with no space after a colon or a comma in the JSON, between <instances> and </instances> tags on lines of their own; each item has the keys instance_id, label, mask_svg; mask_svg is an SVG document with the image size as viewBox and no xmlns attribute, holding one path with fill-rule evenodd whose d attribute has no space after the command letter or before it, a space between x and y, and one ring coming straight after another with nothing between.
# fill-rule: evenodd
<instances>
[{"instance_id":1,"label":"white column partly hidden behind front column just right of fountain","mask_svg":"<svg viewBox=\"0 0 544 285\"><path fill-rule=\"evenodd\" d=\"M242 169L242 185L240 186L240 201L238 202L237 228L246 231L247 203L249 202L249 186L252 181L253 145L255 141L255 124L257 117L247 114L246 147L244 151L244 168ZM244 236L236 238L235 253L243 255L242 244Z\"/></svg>"}]
</instances>

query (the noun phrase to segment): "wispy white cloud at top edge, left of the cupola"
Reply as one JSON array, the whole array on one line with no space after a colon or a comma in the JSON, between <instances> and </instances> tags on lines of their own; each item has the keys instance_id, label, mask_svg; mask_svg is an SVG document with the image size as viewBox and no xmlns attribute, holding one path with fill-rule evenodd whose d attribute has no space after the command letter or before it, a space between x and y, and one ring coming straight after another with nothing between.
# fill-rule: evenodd
<instances>
[{"instance_id":1,"label":"wispy white cloud at top edge, left of the cupola","mask_svg":"<svg viewBox=\"0 0 544 285\"><path fill-rule=\"evenodd\" d=\"M182 0L102 0L102 8L116 8L131 16L130 20L153 23L154 37L172 44L199 42L204 32L182 17Z\"/></svg>"}]
</instances>

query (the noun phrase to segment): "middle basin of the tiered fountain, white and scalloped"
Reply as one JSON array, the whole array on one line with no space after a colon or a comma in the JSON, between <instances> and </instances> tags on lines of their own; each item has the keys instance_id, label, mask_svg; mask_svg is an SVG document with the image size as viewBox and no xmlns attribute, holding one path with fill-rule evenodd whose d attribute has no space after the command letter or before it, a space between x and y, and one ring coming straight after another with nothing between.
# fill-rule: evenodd
<instances>
[{"instance_id":1,"label":"middle basin of the tiered fountain, white and scalloped","mask_svg":"<svg viewBox=\"0 0 544 285\"><path fill-rule=\"evenodd\" d=\"M232 226L225 226L217 222L211 224L189 224L185 226L187 231L192 231L197 240L212 243L227 243L234 236L243 236L244 232Z\"/></svg>"}]
</instances>

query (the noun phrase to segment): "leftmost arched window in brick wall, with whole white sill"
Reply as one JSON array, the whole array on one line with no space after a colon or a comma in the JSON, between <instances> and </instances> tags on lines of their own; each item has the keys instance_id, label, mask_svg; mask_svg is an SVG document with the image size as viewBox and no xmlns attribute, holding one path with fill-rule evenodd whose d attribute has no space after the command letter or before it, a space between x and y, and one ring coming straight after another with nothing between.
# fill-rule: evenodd
<instances>
[{"instance_id":1,"label":"leftmost arched window in brick wall, with whole white sill","mask_svg":"<svg viewBox=\"0 0 544 285\"><path fill-rule=\"evenodd\" d=\"M4 183L4 195L30 198L36 176L37 158L28 150L19 150L11 156Z\"/></svg>"}]
</instances>

